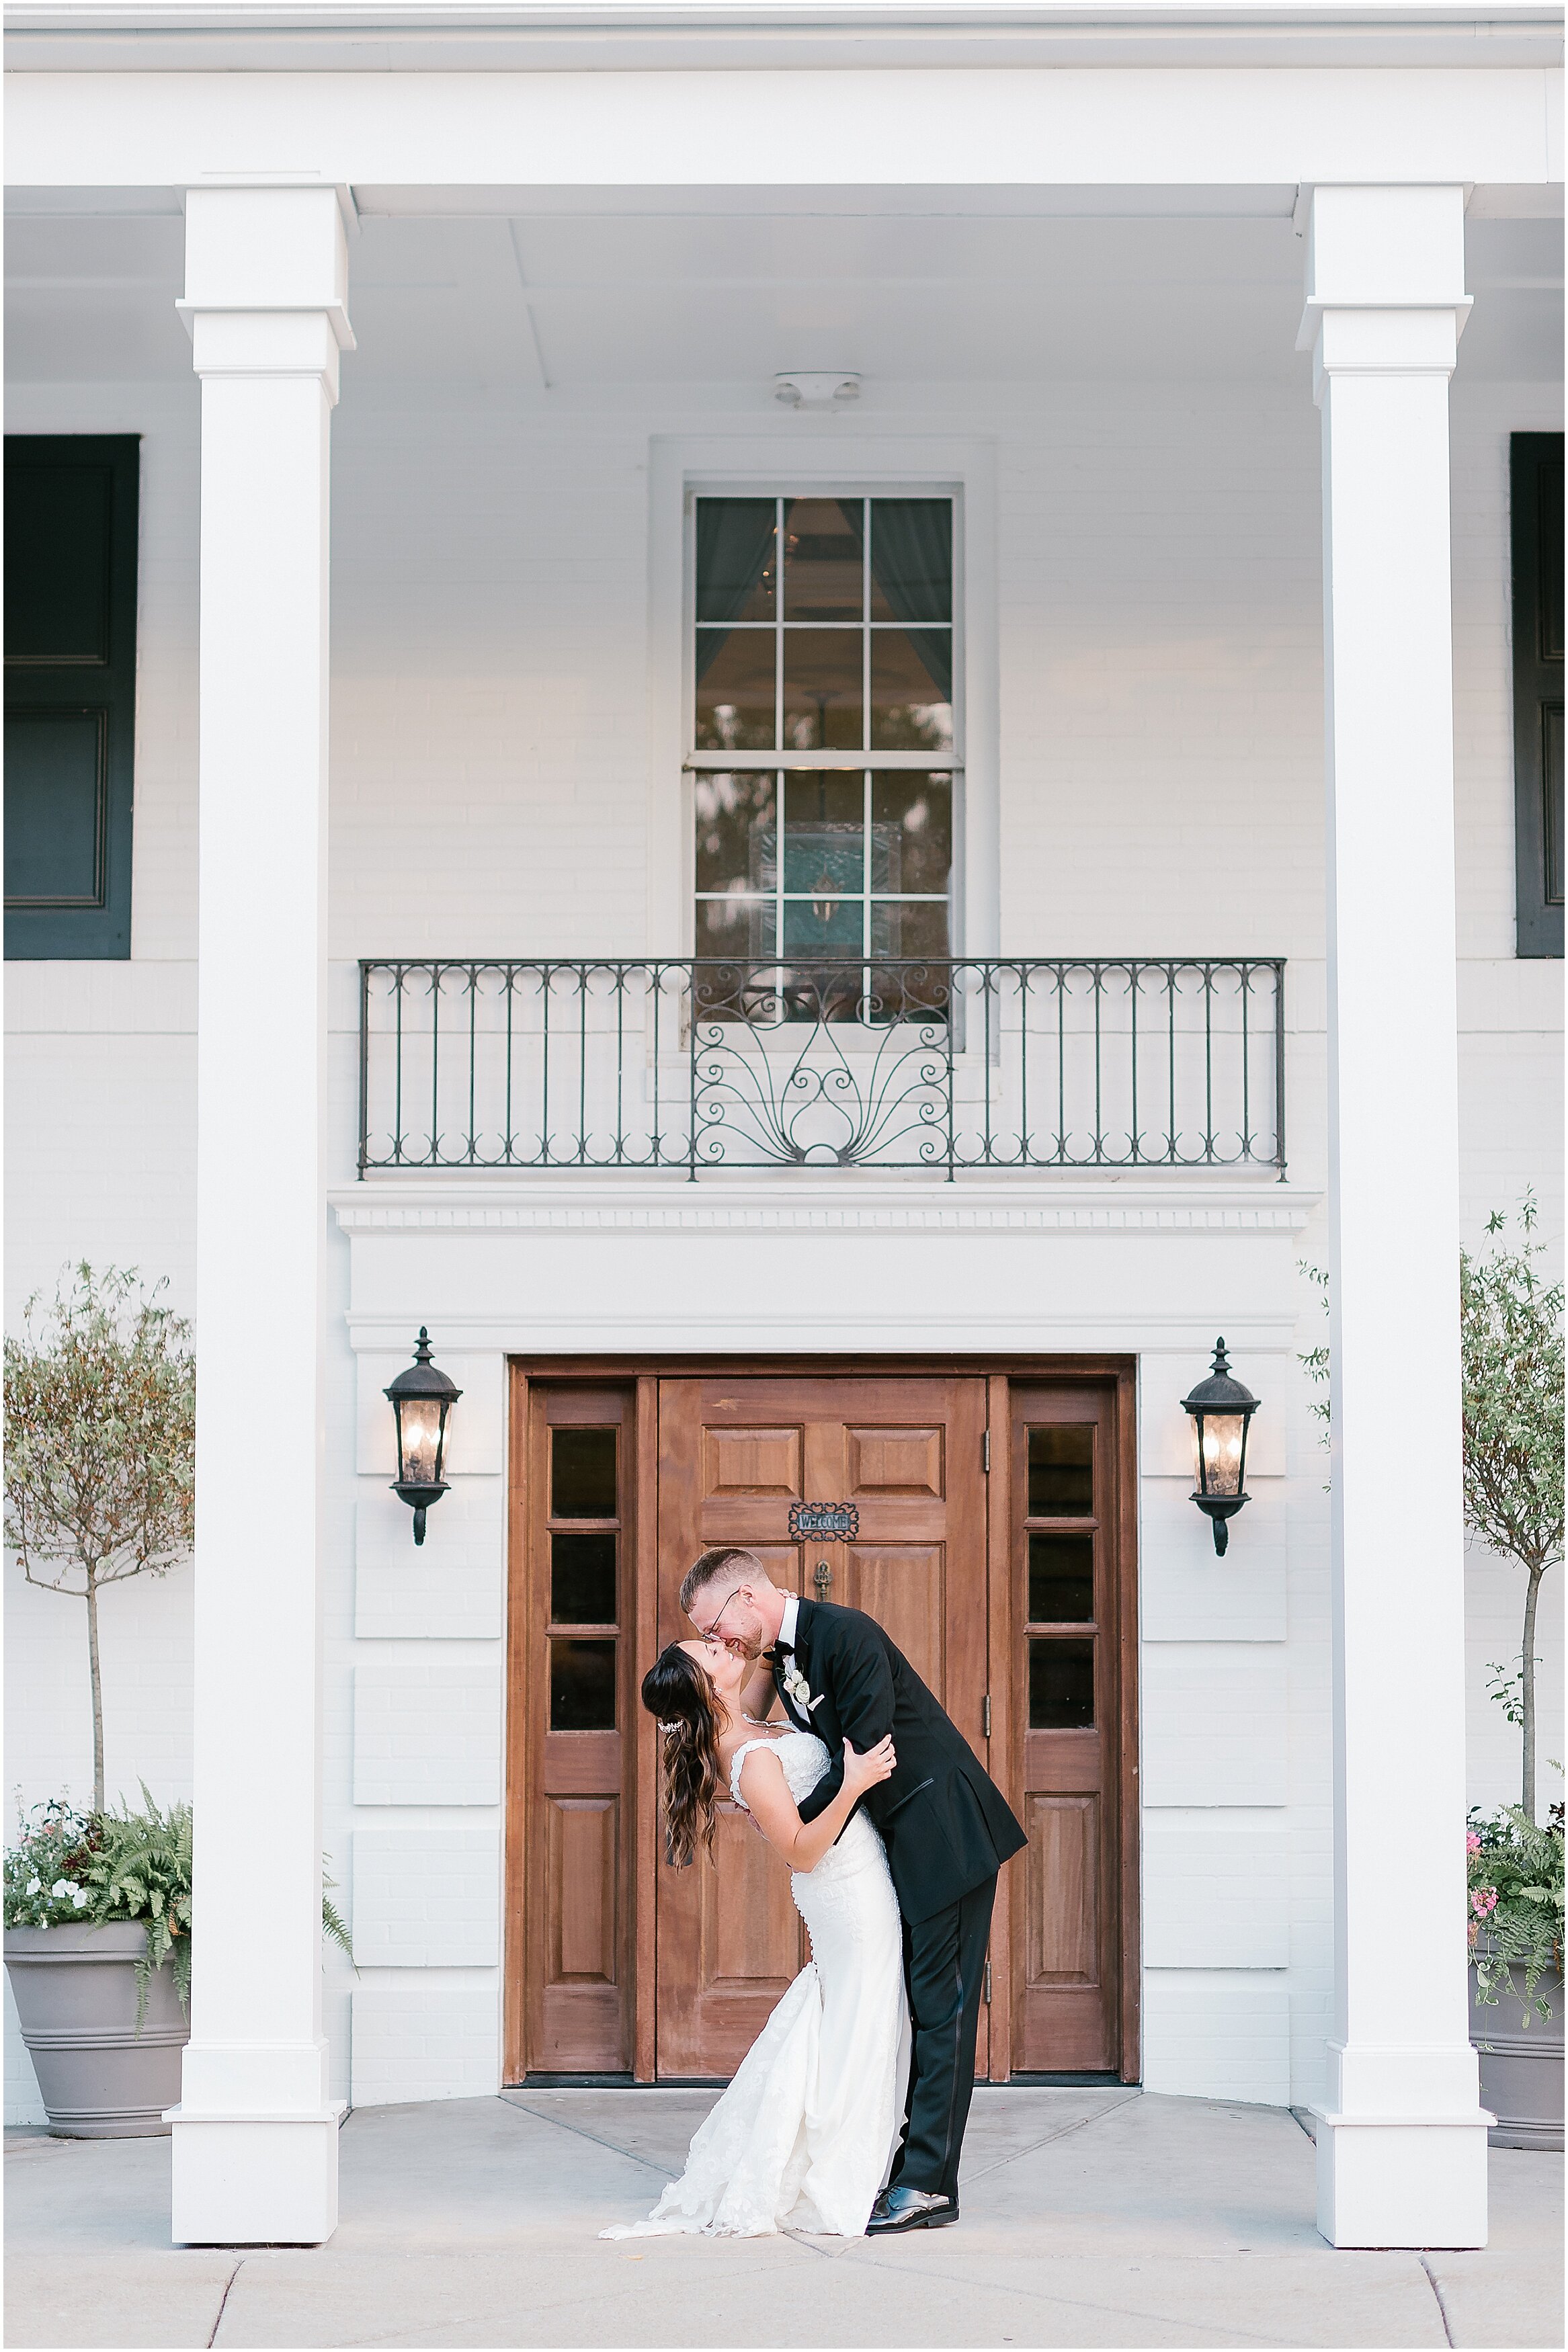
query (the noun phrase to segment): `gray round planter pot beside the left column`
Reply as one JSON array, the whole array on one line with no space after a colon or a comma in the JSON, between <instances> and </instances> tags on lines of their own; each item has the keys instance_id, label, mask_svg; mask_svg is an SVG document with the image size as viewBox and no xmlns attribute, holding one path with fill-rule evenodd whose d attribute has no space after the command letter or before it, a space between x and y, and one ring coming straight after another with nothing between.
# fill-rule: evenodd
<instances>
[{"instance_id":1,"label":"gray round planter pot beside the left column","mask_svg":"<svg viewBox=\"0 0 1568 2352\"><path fill-rule=\"evenodd\" d=\"M190 2023L165 1962L136 2032L136 1957L146 1936L115 1926L7 1926L5 1966L33 2053L49 2131L66 2140L136 2140L169 2126Z\"/></svg>"}]
</instances>

